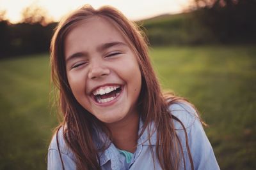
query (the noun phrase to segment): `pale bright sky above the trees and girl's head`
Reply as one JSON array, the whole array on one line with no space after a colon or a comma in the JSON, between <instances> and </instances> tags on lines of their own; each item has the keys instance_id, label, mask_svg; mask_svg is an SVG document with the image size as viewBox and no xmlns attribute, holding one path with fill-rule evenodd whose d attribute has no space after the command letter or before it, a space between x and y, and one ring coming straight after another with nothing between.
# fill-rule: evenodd
<instances>
[{"instance_id":1,"label":"pale bright sky above the trees and girl's head","mask_svg":"<svg viewBox=\"0 0 256 170\"><path fill-rule=\"evenodd\" d=\"M166 13L181 13L188 8L189 2L191 0L0 0L0 11L6 11L5 17L17 23L21 19L22 10L34 4L42 7L53 20L58 21L63 15L83 4L91 4L94 8L111 5L122 11L127 18L140 20Z\"/></svg>"}]
</instances>

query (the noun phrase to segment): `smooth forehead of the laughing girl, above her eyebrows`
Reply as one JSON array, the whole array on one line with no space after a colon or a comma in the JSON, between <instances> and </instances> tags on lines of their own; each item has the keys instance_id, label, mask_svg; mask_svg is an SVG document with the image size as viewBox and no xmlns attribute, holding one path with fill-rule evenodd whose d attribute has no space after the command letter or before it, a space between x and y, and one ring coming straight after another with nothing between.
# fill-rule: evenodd
<instances>
[{"instance_id":1,"label":"smooth forehead of the laughing girl, above her eyebrows","mask_svg":"<svg viewBox=\"0 0 256 170\"><path fill-rule=\"evenodd\" d=\"M120 41L129 44L128 39L116 24L102 17L90 17L72 25L64 41L64 53L67 58L72 53L93 51L104 43Z\"/></svg>"}]
</instances>

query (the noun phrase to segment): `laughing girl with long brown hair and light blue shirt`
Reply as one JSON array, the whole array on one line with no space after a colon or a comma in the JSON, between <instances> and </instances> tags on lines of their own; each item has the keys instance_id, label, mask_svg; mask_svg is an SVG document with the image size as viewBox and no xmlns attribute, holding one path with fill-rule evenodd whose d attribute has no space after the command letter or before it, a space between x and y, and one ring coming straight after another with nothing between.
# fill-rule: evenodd
<instances>
[{"instance_id":1,"label":"laughing girl with long brown hair and light blue shirt","mask_svg":"<svg viewBox=\"0 0 256 170\"><path fill-rule=\"evenodd\" d=\"M115 8L63 19L51 66L63 122L48 169L219 169L193 105L162 94L145 38Z\"/></svg>"}]
</instances>

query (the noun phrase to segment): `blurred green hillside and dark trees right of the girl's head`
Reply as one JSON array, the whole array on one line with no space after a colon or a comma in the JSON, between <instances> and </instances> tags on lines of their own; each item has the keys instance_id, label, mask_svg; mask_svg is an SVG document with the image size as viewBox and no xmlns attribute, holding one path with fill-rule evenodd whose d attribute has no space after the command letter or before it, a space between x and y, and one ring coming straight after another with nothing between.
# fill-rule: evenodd
<instances>
[{"instance_id":1,"label":"blurred green hillside and dark trees right of the girl's head","mask_svg":"<svg viewBox=\"0 0 256 170\"><path fill-rule=\"evenodd\" d=\"M194 0L186 13L143 21L152 45L256 43L256 0Z\"/></svg>"}]
</instances>

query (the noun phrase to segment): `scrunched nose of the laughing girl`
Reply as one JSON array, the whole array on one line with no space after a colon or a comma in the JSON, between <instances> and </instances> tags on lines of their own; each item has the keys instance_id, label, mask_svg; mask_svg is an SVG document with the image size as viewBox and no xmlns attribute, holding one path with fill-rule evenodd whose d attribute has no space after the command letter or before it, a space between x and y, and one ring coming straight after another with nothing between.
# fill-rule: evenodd
<instances>
[{"instance_id":1,"label":"scrunched nose of the laughing girl","mask_svg":"<svg viewBox=\"0 0 256 170\"><path fill-rule=\"evenodd\" d=\"M107 76L110 73L110 70L108 67L104 66L103 64L100 64L99 62L92 62L90 64L90 70L88 73L88 78L90 79L96 79L96 78L102 78L103 76Z\"/></svg>"}]
</instances>

